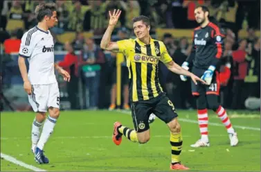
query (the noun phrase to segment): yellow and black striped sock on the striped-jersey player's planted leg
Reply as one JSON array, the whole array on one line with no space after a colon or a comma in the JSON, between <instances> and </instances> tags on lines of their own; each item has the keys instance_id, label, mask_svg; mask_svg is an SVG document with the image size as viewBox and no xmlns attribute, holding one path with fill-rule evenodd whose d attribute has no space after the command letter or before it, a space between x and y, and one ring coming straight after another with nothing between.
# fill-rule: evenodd
<instances>
[{"instance_id":1,"label":"yellow and black striped sock on the striped-jersey player's planted leg","mask_svg":"<svg viewBox=\"0 0 261 172\"><path fill-rule=\"evenodd\" d=\"M182 149L182 135L179 133L170 132L170 144L171 144L171 162L180 162L179 157Z\"/></svg>"}]
</instances>

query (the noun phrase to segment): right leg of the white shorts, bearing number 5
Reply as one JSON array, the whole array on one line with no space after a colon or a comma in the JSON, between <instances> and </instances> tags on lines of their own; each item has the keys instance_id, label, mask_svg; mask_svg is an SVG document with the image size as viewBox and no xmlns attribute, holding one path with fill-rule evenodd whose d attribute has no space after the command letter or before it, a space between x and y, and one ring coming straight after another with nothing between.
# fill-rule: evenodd
<instances>
[{"instance_id":1,"label":"right leg of the white shorts, bearing number 5","mask_svg":"<svg viewBox=\"0 0 261 172\"><path fill-rule=\"evenodd\" d=\"M53 83L49 85L48 90L48 104L47 107L56 107L57 109L60 108L60 91L58 87L58 83Z\"/></svg>"}]
</instances>

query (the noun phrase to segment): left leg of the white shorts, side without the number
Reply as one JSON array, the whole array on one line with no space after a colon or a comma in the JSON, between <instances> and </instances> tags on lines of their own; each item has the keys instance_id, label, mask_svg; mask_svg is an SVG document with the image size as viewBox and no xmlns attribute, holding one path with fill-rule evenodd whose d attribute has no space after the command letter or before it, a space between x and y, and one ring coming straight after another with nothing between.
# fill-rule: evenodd
<instances>
[{"instance_id":1,"label":"left leg of the white shorts, side without the number","mask_svg":"<svg viewBox=\"0 0 261 172\"><path fill-rule=\"evenodd\" d=\"M46 112L48 85L32 85L32 94L28 95L28 100L35 112Z\"/></svg>"}]
</instances>

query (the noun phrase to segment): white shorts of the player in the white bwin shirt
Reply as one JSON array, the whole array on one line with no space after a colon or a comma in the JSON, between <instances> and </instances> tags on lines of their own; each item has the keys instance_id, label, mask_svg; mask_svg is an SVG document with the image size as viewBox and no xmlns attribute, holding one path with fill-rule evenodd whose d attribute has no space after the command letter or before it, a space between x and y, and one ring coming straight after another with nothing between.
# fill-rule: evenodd
<instances>
[{"instance_id":1,"label":"white shorts of the player in the white bwin shirt","mask_svg":"<svg viewBox=\"0 0 261 172\"><path fill-rule=\"evenodd\" d=\"M58 83L32 85L29 103L35 112L47 112L49 107L60 108L60 91Z\"/></svg>"}]
</instances>

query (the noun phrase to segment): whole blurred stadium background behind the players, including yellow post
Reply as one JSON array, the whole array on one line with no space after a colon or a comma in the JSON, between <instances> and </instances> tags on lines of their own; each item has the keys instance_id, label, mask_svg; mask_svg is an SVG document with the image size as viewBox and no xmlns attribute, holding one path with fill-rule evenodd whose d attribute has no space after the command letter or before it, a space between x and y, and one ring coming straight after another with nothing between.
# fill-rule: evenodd
<instances>
[{"instance_id":1,"label":"whole blurred stadium background behind the players, including yellow post","mask_svg":"<svg viewBox=\"0 0 261 172\"><path fill-rule=\"evenodd\" d=\"M37 24L33 10L39 2L0 2L1 110L31 110L19 73L17 52L23 33ZM123 74L124 58L99 49L109 10L120 8L123 11L112 40L134 37L132 17L146 15L152 22L152 37L162 40L174 61L181 65L190 54L192 30L197 26L194 19L197 5L208 6L211 21L218 22L226 32L222 57L222 105L229 109L245 109L246 99L252 98L259 105L254 103L248 108L260 108L260 1L82 0L55 3L59 20L51 29L55 39L55 61L63 61L61 64L73 75L71 85L57 76L63 110L107 109L115 81L122 86L117 89L117 103L123 106L123 80L120 78L126 76ZM78 60L68 63L64 57L70 45ZM92 46L96 51L88 51ZM251 58L246 57L246 52ZM195 109L190 81L181 82L179 76L171 74L163 64L159 65L161 85L175 107Z\"/></svg>"}]
</instances>

